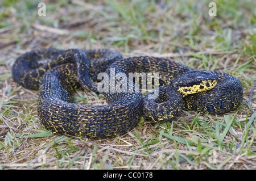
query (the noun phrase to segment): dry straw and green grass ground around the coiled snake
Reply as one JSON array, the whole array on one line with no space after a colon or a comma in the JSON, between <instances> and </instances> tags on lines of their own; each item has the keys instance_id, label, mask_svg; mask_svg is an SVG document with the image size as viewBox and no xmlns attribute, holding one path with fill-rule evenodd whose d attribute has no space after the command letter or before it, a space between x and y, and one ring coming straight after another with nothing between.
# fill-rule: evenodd
<instances>
[{"instance_id":1,"label":"dry straw and green grass ground around the coiled snake","mask_svg":"<svg viewBox=\"0 0 256 181\"><path fill-rule=\"evenodd\" d=\"M255 1L213 1L217 16L210 1L44 1L46 16L39 2L0 2L0 169L256 169ZM38 118L38 91L11 78L20 54L48 47L112 48L222 70L240 79L244 99L225 115L184 111L108 140L52 135ZM106 104L82 90L73 102Z\"/></svg>"}]
</instances>

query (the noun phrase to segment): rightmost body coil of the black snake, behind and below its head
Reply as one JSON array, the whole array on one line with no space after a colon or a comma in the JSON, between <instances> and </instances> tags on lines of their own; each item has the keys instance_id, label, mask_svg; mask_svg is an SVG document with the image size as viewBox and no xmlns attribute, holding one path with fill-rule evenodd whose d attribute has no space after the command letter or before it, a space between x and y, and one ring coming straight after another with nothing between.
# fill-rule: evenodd
<instances>
[{"instance_id":1,"label":"rightmost body coil of the black snake, behind and below its head","mask_svg":"<svg viewBox=\"0 0 256 181\"><path fill-rule=\"evenodd\" d=\"M220 71L217 74L217 85L213 89L191 94L183 99L184 110L197 110L212 114L222 114L234 110L243 100L241 82L233 75Z\"/></svg>"}]
</instances>

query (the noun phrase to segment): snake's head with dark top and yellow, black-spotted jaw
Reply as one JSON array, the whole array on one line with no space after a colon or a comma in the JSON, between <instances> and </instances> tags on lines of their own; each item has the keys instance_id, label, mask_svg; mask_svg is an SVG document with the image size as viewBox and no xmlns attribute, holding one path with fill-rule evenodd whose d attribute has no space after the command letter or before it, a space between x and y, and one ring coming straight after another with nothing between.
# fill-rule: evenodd
<instances>
[{"instance_id":1,"label":"snake's head with dark top and yellow, black-spotted jaw","mask_svg":"<svg viewBox=\"0 0 256 181\"><path fill-rule=\"evenodd\" d=\"M217 84L217 78L212 71L192 70L174 79L172 85L186 96L212 89Z\"/></svg>"}]
</instances>

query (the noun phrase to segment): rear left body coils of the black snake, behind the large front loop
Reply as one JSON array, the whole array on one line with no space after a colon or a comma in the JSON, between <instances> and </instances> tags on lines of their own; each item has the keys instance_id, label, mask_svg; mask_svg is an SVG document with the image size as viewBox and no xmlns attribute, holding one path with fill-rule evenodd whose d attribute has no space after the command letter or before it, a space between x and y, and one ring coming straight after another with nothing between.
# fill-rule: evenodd
<instances>
[{"instance_id":1,"label":"rear left body coils of the black snake, behind the large front loop","mask_svg":"<svg viewBox=\"0 0 256 181\"><path fill-rule=\"evenodd\" d=\"M82 60L74 60L73 58L77 51L77 49L59 50L49 48L24 53L17 58L13 65L14 81L26 89L38 90L40 78L47 70L62 64L73 63L79 65ZM86 53L90 60L85 59L87 63L90 62L89 75L93 81L97 81L98 73L104 72L110 64L122 58L119 52L109 49L86 50L86 52L82 50L81 52ZM93 88L90 87L90 89Z\"/></svg>"}]
</instances>

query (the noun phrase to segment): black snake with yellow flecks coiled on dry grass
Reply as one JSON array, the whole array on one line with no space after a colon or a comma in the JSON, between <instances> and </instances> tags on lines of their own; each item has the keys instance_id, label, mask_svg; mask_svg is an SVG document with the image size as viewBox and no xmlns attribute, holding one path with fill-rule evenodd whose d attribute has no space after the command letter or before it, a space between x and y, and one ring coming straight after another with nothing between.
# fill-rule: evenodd
<instances>
[{"instance_id":1,"label":"black snake with yellow flecks coiled on dry grass","mask_svg":"<svg viewBox=\"0 0 256 181\"><path fill-rule=\"evenodd\" d=\"M141 87L127 79L123 85L130 91L102 92L107 104L71 102L79 87L99 93L98 75L110 78L113 69L114 83L129 73L158 73L158 84L152 81L158 89L144 96ZM228 73L193 69L170 58L123 58L110 49L31 50L16 58L12 74L24 88L39 90L37 110L44 127L72 137L111 138L131 131L142 118L151 123L172 121L182 110L223 114L243 100L241 82Z\"/></svg>"}]
</instances>

